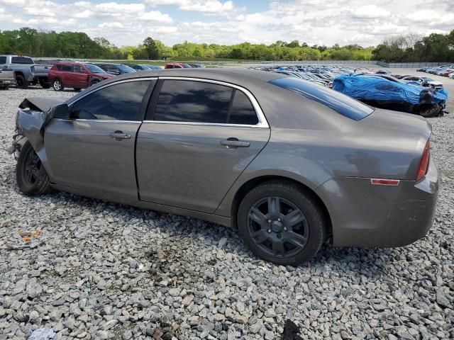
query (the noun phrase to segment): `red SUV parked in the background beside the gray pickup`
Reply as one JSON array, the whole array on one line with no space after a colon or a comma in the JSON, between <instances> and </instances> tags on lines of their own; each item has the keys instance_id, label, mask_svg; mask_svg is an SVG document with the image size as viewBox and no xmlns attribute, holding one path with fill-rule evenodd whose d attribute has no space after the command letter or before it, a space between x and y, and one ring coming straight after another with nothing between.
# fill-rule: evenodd
<instances>
[{"instance_id":1,"label":"red SUV parked in the background beside the gray pickup","mask_svg":"<svg viewBox=\"0 0 454 340\"><path fill-rule=\"evenodd\" d=\"M65 87L80 91L111 77L114 76L100 67L82 62L57 62L49 71L49 81L55 91L63 91Z\"/></svg>"}]
</instances>

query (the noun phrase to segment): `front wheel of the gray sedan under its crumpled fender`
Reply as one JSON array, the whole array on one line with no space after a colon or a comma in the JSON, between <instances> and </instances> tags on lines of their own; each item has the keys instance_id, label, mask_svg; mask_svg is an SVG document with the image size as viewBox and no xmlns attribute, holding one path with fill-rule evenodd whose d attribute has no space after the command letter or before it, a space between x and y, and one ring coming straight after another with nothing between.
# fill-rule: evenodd
<instances>
[{"instance_id":1,"label":"front wheel of the gray sedan under its crumpled fender","mask_svg":"<svg viewBox=\"0 0 454 340\"><path fill-rule=\"evenodd\" d=\"M28 141L21 148L17 160L16 180L24 195L43 195L51 191L49 176Z\"/></svg>"}]
</instances>

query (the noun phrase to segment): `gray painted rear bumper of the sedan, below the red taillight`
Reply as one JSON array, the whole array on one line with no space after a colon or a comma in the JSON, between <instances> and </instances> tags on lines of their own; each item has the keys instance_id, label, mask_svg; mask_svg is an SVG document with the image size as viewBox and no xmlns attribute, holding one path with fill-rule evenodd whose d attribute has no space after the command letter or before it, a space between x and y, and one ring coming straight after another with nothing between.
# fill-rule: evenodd
<instances>
[{"instance_id":1,"label":"gray painted rear bumper of the sedan, below the red taillight","mask_svg":"<svg viewBox=\"0 0 454 340\"><path fill-rule=\"evenodd\" d=\"M424 237L435 215L438 172L399 186L372 186L370 179L331 179L317 188L333 226L334 246L394 247Z\"/></svg>"}]
</instances>

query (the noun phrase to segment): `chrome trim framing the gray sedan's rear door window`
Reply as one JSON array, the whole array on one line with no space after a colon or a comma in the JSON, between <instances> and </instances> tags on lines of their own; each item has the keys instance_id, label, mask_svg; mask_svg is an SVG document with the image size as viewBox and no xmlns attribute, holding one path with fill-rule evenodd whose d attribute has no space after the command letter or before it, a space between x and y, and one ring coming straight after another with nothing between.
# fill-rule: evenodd
<instances>
[{"instance_id":1,"label":"chrome trim framing the gray sedan's rear door window","mask_svg":"<svg viewBox=\"0 0 454 340\"><path fill-rule=\"evenodd\" d=\"M270 128L270 125L268 125L267 119L265 117L265 114L262 111L262 108L260 108L260 105L253 96L253 94L250 93L248 89L245 89L244 87L238 86L236 84L231 84L231 83L226 83L225 81L218 81L218 80L211 80L211 79L204 79L204 78L193 78L193 77L172 77L172 76L165 76L165 77L159 77L159 79L164 79L164 80L187 80L187 81L199 81L202 83L211 83L211 84L218 84L218 85L223 85L223 86L228 86L232 87L233 89L237 89L239 91L242 91L243 94L245 94L250 102L253 104L253 108L255 110L255 114L258 117L258 123L255 125L243 125L243 124L228 124L228 123L199 123L199 122L173 122L173 121L167 121L167 120L144 120L143 123L157 123L157 124L179 124L179 125L207 125L207 126L232 126L232 127L244 127L244 128Z\"/></svg>"}]
</instances>

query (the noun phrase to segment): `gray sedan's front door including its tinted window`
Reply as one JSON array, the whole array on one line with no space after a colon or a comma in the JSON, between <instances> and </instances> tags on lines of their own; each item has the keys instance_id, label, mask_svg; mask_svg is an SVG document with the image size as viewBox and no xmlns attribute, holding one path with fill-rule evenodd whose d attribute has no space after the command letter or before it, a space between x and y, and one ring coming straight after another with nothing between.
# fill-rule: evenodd
<instances>
[{"instance_id":1,"label":"gray sedan's front door including its tinted window","mask_svg":"<svg viewBox=\"0 0 454 340\"><path fill-rule=\"evenodd\" d=\"M44 135L52 183L106 200L137 199L135 135L154 82L110 84L71 103L69 118L54 118Z\"/></svg>"}]
</instances>

